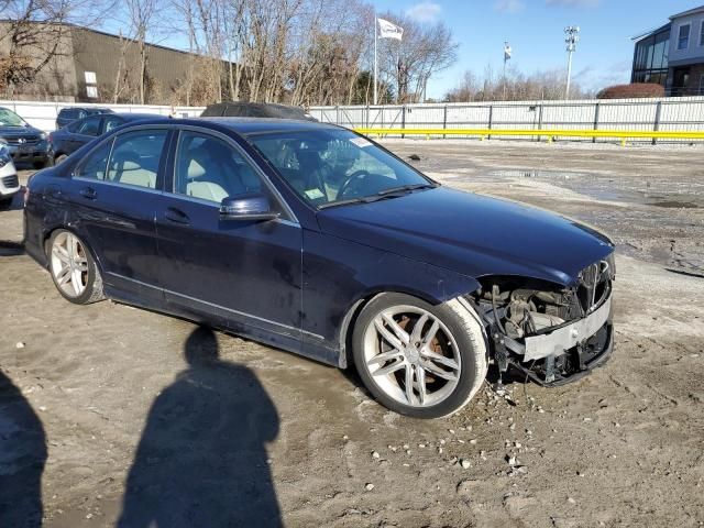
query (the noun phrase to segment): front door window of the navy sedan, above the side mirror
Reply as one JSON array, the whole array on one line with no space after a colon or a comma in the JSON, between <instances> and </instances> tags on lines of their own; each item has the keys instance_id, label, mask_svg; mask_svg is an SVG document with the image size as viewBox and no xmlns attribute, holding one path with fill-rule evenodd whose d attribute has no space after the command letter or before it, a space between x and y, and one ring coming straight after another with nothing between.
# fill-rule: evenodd
<instances>
[{"instance_id":1,"label":"front door window of the navy sedan, above the side mirror","mask_svg":"<svg viewBox=\"0 0 704 528\"><path fill-rule=\"evenodd\" d=\"M226 141L184 131L178 139L174 193L220 204L224 198L263 193L252 166Z\"/></svg>"}]
</instances>

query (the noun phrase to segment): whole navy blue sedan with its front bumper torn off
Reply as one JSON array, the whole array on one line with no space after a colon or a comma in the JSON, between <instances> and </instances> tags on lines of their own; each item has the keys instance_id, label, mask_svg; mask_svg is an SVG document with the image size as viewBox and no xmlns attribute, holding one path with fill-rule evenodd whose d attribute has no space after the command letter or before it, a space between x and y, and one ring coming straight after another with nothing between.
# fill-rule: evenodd
<instances>
[{"instance_id":1,"label":"whole navy blue sedan with its front bumper torn off","mask_svg":"<svg viewBox=\"0 0 704 528\"><path fill-rule=\"evenodd\" d=\"M550 386L613 349L607 237L443 187L329 124L132 123L37 173L24 216L26 252L69 301L354 365L414 417L460 409L490 361Z\"/></svg>"}]
</instances>

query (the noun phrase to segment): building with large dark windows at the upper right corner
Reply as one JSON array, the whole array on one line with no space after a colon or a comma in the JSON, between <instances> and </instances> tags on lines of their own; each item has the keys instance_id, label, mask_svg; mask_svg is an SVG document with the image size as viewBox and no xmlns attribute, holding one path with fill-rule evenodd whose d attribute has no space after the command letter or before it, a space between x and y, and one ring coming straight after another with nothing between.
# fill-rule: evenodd
<instances>
[{"instance_id":1,"label":"building with large dark windows at the upper right corner","mask_svg":"<svg viewBox=\"0 0 704 528\"><path fill-rule=\"evenodd\" d=\"M631 82L656 82L668 96L704 95L704 6L634 37Z\"/></svg>"}]
</instances>

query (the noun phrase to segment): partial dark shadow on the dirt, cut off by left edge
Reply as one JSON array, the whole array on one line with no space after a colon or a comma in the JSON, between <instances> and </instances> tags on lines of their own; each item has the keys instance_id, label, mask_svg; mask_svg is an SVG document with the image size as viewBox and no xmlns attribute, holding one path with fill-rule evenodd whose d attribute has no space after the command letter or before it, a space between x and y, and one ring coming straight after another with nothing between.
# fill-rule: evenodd
<instances>
[{"instance_id":1,"label":"partial dark shadow on the dirt, cut off by left edge","mask_svg":"<svg viewBox=\"0 0 704 528\"><path fill-rule=\"evenodd\" d=\"M32 406L0 370L0 526L42 526L46 433Z\"/></svg>"}]
</instances>

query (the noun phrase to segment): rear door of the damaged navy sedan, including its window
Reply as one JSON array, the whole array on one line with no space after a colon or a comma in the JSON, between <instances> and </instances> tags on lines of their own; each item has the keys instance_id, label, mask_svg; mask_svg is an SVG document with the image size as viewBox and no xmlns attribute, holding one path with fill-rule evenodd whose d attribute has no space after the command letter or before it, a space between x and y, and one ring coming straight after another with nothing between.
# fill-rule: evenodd
<instances>
[{"instance_id":1,"label":"rear door of the damaged navy sedan, including its window","mask_svg":"<svg viewBox=\"0 0 704 528\"><path fill-rule=\"evenodd\" d=\"M100 144L77 166L70 200L107 285L141 304L162 299L155 205L170 132L140 128Z\"/></svg>"}]
</instances>

